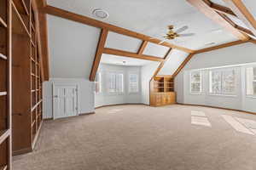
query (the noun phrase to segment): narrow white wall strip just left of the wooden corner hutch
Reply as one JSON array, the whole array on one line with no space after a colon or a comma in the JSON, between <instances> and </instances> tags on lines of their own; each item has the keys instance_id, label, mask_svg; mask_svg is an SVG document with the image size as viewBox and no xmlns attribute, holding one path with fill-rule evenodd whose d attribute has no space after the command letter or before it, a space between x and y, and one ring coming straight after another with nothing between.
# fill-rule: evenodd
<instances>
[{"instance_id":1,"label":"narrow white wall strip just left of the wooden corner hutch","mask_svg":"<svg viewBox=\"0 0 256 170\"><path fill-rule=\"evenodd\" d=\"M143 65L141 70L142 77L142 103L149 105L149 82L154 75L154 71L160 65L159 62L155 62L149 65Z\"/></svg>"}]
</instances>

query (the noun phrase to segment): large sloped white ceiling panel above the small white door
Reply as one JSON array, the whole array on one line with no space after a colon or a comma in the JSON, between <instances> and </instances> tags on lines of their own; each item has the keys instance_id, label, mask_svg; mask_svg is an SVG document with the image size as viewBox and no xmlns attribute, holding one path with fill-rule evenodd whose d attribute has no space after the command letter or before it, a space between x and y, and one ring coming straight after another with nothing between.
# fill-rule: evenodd
<instances>
[{"instance_id":1,"label":"large sloped white ceiling panel above the small white door","mask_svg":"<svg viewBox=\"0 0 256 170\"><path fill-rule=\"evenodd\" d=\"M100 29L48 15L51 78L89 78Z\"/></svg>"}]
</instances>

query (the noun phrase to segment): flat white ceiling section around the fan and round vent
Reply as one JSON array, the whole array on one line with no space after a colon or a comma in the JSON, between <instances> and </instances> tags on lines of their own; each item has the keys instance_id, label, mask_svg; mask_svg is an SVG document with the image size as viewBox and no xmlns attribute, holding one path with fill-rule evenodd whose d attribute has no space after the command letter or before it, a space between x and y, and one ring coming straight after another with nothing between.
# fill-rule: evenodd
<instances>
[{"instance_id":1,"label":"flat white ceiling section around the fan and round vent","mask_svg":"<svg viewBox=\"0 0 256 170\"><path fill-rule=\"evenodd\" d=\"M176 28L189 26L189 30L183 33L193 32L194 37L180 37L175 41L169 41L186 48L208 48L210 46L207 44L211 42L217 45L237 40L190 6L186 0L48 0L48 3L56 8L63 8L96 20L99 19L91 12L94 8L102 8L109 13L108 19L103 20L104 22L158 38L162 38L163 33L166 33L168 25L172 24Z\"/></svg>"}]
</instances>

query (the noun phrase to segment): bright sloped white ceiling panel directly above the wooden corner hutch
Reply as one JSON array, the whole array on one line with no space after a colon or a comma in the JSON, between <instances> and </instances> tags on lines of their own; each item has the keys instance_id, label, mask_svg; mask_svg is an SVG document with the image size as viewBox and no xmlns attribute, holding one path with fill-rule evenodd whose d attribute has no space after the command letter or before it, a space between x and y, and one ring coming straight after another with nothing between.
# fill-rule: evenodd
<instances>
[{"instance_id":1,"label":"bright sloped white ceiling panel directly above the wooden corner hutch","mask_svg":"<svg viewBox=\"0 0 256 170\"><path fill-rule=\"evenodd\" d=\"M172 49L172 52L169 54L165 65L159 71L158 75L172 75L188 56L189 54L183 51Z\"/></svg>"}]
</instances>

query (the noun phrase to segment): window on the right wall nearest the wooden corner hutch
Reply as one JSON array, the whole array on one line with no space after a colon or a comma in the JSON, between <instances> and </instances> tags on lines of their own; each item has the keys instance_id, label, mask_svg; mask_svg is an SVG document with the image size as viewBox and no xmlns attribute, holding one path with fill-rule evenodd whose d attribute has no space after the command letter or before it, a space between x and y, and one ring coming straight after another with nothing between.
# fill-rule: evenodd
<instances>
[{"instance_id":1,"label":"window on the right wall nearest the wooden corner hutch","mask_svg":"<svg viewBox=\"0 0 256 170\"><path fill-rule=\"evenodd\" d=\"M202 92L202 81L201 71L192 71L190 74L190 93L201 94Z\"/></svg>"}]
</instances>

